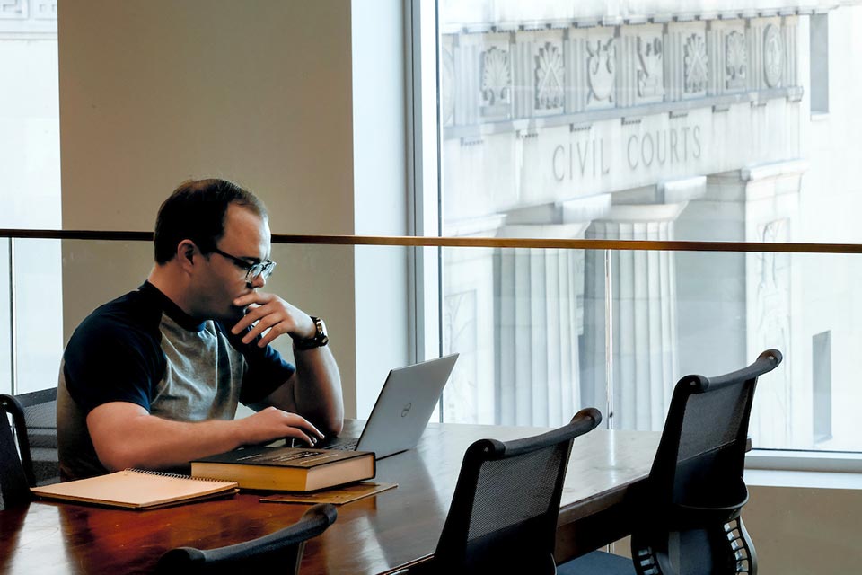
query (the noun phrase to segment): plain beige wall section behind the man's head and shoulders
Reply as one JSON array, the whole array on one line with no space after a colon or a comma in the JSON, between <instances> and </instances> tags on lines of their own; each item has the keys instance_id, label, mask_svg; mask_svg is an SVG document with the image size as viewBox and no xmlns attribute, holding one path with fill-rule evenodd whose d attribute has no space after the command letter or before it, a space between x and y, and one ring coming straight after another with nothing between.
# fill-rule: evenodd
<instances>
[{"instance_id":1,"label":"plain beige wall section behind the man's head and shoulders","mask_svg":"<svg viewBox=\"0 0 862 575\"><path fill-rule=\"evenodd\" d=\"M152 230L180 181L218 176L264 200L274 234L355 233L356 204L367 199L354 194L353 114L363 108L353 100L351 8L348 0L60 3L64 229ZM385 131L399 138L397 152L403 103L386 113L397 118ZM403 196L403 153L383 158L366 177L396 166L385 191L398 182ZM403 228L403 206L376 207ZM66 339L94 305L145 278L148 266L129 270L122 252L66 246ZM356 258L331 249L303 254L279 261L271 285L326 319L353 415ZM78 265L82 257L86 265Z\"/></svg>"}]
</instances>

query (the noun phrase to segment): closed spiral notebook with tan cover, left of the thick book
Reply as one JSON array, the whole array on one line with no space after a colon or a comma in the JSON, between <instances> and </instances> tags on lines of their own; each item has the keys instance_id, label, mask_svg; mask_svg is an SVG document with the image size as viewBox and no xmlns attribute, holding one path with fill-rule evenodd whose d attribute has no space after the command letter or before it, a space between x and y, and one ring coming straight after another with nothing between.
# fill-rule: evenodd
<instances>
[{"instance_id":1,"label":"closed spiral notebook with tan cover, left of the thick book","mask_svg":"<svg viewBox=\"0 0 862 575\"><path fill-rule=\"evenodd\" d=\"M126 509L155 509L233 495L236 482L127 469L74 482L31 487L37 497Z\"/></svg>"}]
</instances>

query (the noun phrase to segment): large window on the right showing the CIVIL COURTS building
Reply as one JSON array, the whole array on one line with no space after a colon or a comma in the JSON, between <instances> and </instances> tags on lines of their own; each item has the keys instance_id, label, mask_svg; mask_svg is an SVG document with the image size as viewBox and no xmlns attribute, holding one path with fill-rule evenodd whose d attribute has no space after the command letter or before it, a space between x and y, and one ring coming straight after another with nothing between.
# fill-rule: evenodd
<instances>
[{"instance_id":1,"label":"large window on the right showing the CIVIL COURTS building","mask_svg":"<svg viewBox=\"0 0 862 575\"><path fill-rule=\"evenodd\" d=\"M862 7L708 4L438 2L443 234L862 243L862 78L817 73L862 57ZM813 120L823 94L829 115ZM661 429L680 376L777 348L757 447L862 449L860 266L767 250L444 250L444 350L462 354L444 419L557 425L591 404L617 429Z\"/></svg>"}]
</instances>

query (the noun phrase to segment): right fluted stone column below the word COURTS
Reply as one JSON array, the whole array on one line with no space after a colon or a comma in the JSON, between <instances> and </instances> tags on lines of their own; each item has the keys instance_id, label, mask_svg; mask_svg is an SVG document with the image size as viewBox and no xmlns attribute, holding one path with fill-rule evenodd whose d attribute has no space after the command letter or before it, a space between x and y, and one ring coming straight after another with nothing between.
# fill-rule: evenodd
<instances>
[{"instance_id":1,"label":"right fluted stone column below the word COURTS","mask_svg":"<svg viewBox=\"0 0 862 575\"><path fill-rule=\"evenodd\" d=\"M664 182L613 194L609 214L586 236L603 240L675 239L674 222L706 179ZM587 252L585 323L595 332L582 341L582 394L607 410L606 349L611 306L614 429L662 429L677 379L676 270L673 252L611 252L611 302L605 296L605 254Z\"/></svg>"}]
</instances>

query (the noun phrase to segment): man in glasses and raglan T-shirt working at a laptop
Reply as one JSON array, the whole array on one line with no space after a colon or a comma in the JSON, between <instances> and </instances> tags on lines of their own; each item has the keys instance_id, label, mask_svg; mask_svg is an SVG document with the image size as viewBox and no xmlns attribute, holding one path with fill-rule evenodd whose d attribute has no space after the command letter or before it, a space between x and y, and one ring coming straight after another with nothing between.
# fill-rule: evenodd
<instances>
[{"instance_id":1,"label":"man in glasses and raglan T-shirt working at a laptop","mask_svg":"<svg viewBox=\"0 0 862 575\"><path fill-rule=\"evenodd\" d=\"M259 199L229 181L185 182L159 209L154 247L144 285L95 310L66 346L63 478L338 434L341 385L322 321L259 291L275 267ZM295 366L269 346L285 334ZM237 402L260 411L234 420Z\"/></svg>"}]
</instances>

